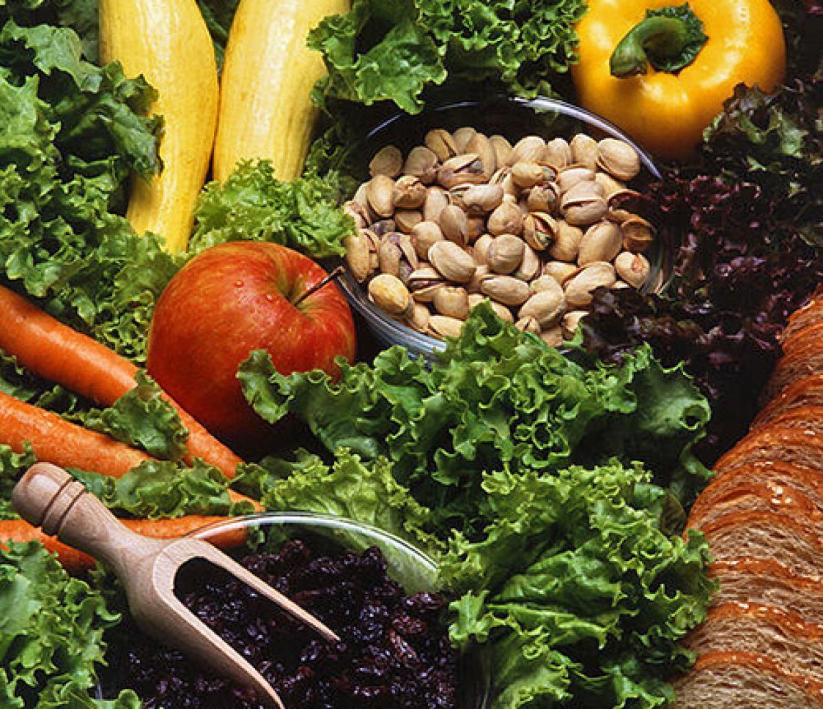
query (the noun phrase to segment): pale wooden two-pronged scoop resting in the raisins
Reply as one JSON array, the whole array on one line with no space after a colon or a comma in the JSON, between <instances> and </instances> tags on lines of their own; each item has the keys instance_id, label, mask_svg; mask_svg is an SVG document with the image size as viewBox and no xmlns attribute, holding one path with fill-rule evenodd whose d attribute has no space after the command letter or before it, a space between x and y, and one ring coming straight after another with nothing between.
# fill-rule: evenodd
<instances>
[{"instance_id":1,"label":"pale wooden two-pronged scoop resting in the raisins","mask_svg":"<svg viewBox=\"0 0 823 709\"><path fill-rule=\"evenodd\" d=\"M192 559L205 559L226 569L323 637L339 640L314 615L207 541L156 540L129 530L62 468L49 463L31 466L16 484L12 503L23 519L42 526L47 535L56 535L64 544L114 568L126 589L132 615L146 633L166 645L179 647L238 684L256 688L278 709L285 706L263 675L174 595L179 568Z\"/></svg>"}]
</instances>

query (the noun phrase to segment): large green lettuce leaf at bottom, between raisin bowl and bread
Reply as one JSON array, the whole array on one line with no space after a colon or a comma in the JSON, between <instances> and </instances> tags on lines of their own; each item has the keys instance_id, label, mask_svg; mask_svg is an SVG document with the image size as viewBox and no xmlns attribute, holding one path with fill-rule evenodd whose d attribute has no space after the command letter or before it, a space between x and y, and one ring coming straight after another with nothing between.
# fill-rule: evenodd
<instances>
[{"instance_id":1,"label":"large green lettuce leaf at bottom, between raisin bowl and bread","mask_svg":"<svg viewBox=\"0 0 823 709\"><path fill-rule=\"evenodd\" d=\"M692 660L678 642L714 590L708 545L661 528L665 491L639 465L486 475L497 517L479 540L453 535L441 582L451 634L495 666L495 709L659 707ZM546 704L548 702L548 704Z\"/></svg>"}]
</instances>

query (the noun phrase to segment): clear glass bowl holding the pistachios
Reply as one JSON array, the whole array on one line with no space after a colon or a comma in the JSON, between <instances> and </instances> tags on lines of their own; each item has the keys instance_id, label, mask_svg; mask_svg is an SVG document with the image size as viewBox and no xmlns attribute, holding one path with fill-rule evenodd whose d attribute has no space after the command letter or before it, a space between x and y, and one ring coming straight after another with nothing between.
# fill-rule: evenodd
<instances>
[{"instance_id":1,"label":"clear glass bowl holding the pistachios","mask_svg":"<svg viewBox=\"0 0 823 709\"><path fill-rule=\"evenodd\" d=\"M360 182L365 182L369 179L369 161L382 147L398 146L405 154L412 147L422 145L426 132L432 128L454 131L461 126L472 126L489 136L503 135L513 145L528 135L569 138L574 133L585 132L596 139L614 137L633 146L640 157L641 172L632 180L632 188L642 188L645 182L660 178L660 171L648 153L641 150L619 128L573 104L546 98L524 100L491 96L482 100L439 104L416 116L396 114L367 132L342 162L345 162L349 174ZM643 290L648 292L663 289L671 273L671 253L672 249L667 247L664 234L644 253L649 259L650 269L649 279ZM348 271L344 272L338 282L351 307L364 319L379 345L403 345L411 354L425 358L444 350L444 341L413 330L374 306L365 290Z\"/></svg>"}]
</instances>

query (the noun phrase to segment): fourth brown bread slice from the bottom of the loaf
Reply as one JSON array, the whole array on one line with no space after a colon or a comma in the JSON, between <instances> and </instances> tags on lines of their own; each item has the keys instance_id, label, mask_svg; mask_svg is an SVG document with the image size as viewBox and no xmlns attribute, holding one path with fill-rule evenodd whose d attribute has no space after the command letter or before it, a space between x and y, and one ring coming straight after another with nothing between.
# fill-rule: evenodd
<instances>
[{"instance_id":1,"label":"fourth brown bread slice from the bottom of the loaf","mask_svg":"<svg viewBox=\"0 0 823 709\"><path fill-rule=\"evenodd\" d=\"M773 558L795 573L823 572L821 528L802 517L759 510L728 512L697 528L706 535L714 559Z\"/></svg>"}]
</instances>

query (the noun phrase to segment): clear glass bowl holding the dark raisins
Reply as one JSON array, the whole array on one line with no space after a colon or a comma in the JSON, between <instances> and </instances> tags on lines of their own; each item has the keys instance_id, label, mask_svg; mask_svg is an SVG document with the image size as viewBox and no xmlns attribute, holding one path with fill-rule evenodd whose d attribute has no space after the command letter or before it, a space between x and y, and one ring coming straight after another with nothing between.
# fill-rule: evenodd
<instances>
[{"instance_id":1,"label":"clear glass bowl holding the dark raisins","mask_svg":"<svg viewBox=\"0 0 823 709\"><path fill-rule=\"evenodd\" d=\"M386 559L388 575L401 584L407 594L438 591L437 566L428 555L398 536L343 517L309 512L265 512L216 522L189 536L216 541L226 535L235 538L240 531L245 533L247 540L262 538L260 533L263 532L267 541L277 547L288 539L299 537L322 552L343 549L361 552L376 546ZM229 553L239 554L243 549L241 546ZM484 658L479 653L464 656L460 675L463 696L459 709L486 709L490 701L491 674Z\"/></svg>"}]
</instances>

